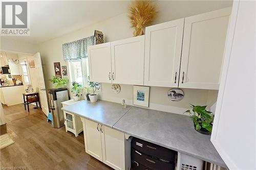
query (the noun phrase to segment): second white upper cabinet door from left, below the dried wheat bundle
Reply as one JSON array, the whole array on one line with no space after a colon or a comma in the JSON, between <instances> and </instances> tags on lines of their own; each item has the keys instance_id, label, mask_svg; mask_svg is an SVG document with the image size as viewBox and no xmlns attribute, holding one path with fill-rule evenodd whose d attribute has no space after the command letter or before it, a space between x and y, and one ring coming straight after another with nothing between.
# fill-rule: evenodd
<instances>
[{"instance_id":1,"label":"second white upper cabinet door from left, below the dried wheat bundle","mask_svg":"<svg viewBox=\"0 0 256 170\"><path fill-rule=\"evenodd\" d=\"M111 42L113 83L143 85L144 35Z\"/></svg>"}]
</instances>

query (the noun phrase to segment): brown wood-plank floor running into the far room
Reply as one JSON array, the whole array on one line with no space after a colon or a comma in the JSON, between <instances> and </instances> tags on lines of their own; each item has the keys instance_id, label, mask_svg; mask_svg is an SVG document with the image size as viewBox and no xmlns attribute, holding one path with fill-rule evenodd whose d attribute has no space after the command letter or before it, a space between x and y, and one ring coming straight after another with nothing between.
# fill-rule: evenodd
<instances>
[{"instance_id":1,"label":"brown wood-plank floor running into the far room","mask_svg":"<svg viewBox=\"0 0 256 170\"><path fill-rule=\"evenodd\" d=\"M19 113L10 113L15 109ZM23 105L15 106L15 109L4 107L5 115L28 115ZM20 113L22 111L24 113ZM39 109L7 123L7 132L15 143L0 150L1 168L112 169L85 152L83 133L75 137L73 133L66 132L65 127L53 128Z\"/></svg>"}]
</instances>

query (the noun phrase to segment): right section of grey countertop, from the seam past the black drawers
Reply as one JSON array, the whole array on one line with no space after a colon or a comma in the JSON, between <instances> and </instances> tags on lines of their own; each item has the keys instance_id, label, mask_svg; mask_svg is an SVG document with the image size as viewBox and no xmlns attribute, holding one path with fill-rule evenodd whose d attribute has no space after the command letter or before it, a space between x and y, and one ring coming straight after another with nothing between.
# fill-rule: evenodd
<instances>
[{"instance_id":1,"label":"right section of grey countertop, from the seam past the black drawers","mask_svg":"<svg viewBox=\"0 0 256 170\"><path fill-rule=\"evenodd\" d=\"M113 129L227 167L210 142L210 136L195 131L186 115L132 107Z\"/></svg>"}]
</instances>

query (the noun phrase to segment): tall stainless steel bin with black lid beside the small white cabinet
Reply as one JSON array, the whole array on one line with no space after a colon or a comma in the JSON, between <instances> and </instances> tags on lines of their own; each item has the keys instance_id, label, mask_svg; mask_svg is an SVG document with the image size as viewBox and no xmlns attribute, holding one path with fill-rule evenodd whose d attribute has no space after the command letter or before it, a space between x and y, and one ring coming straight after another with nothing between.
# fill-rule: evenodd
<instances>
[{"instance_id":1,"label":"tall stainless steel bin with black lid beside the small white cabinet","mask_svg":"<svg viewBox=\"0 0 256 170\"><path fill-rule=\"evenodd\" d=\"M50 110L52 112L53 127L60 128L64 126L64 115L61 110L61 102L69 100L67 88L49 89L48 90Z\"/></svg>"}]
</instances>

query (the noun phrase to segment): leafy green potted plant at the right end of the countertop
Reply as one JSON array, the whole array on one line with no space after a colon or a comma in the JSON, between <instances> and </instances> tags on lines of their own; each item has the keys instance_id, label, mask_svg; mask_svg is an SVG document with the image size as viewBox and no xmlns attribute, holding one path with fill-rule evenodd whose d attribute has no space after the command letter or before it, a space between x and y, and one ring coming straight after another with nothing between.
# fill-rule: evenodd
<instances>
[{"instance_id":1,"label":"leafy green potted plant at the right end of the countertop","mask_svg":"<svg viewBox=\"0 0 256 170\"><path fill-rule=\"evenodd\" d=\"M190 104L191 105L191 104ZM207 106L194 106L191 105L192 113L190 110L184 113L189 113L189 117L194 122L195 129L202 134L211 134L212 122L214 121L214 115L210 111L206 110Z\"/></svg>"}]
</instances>

